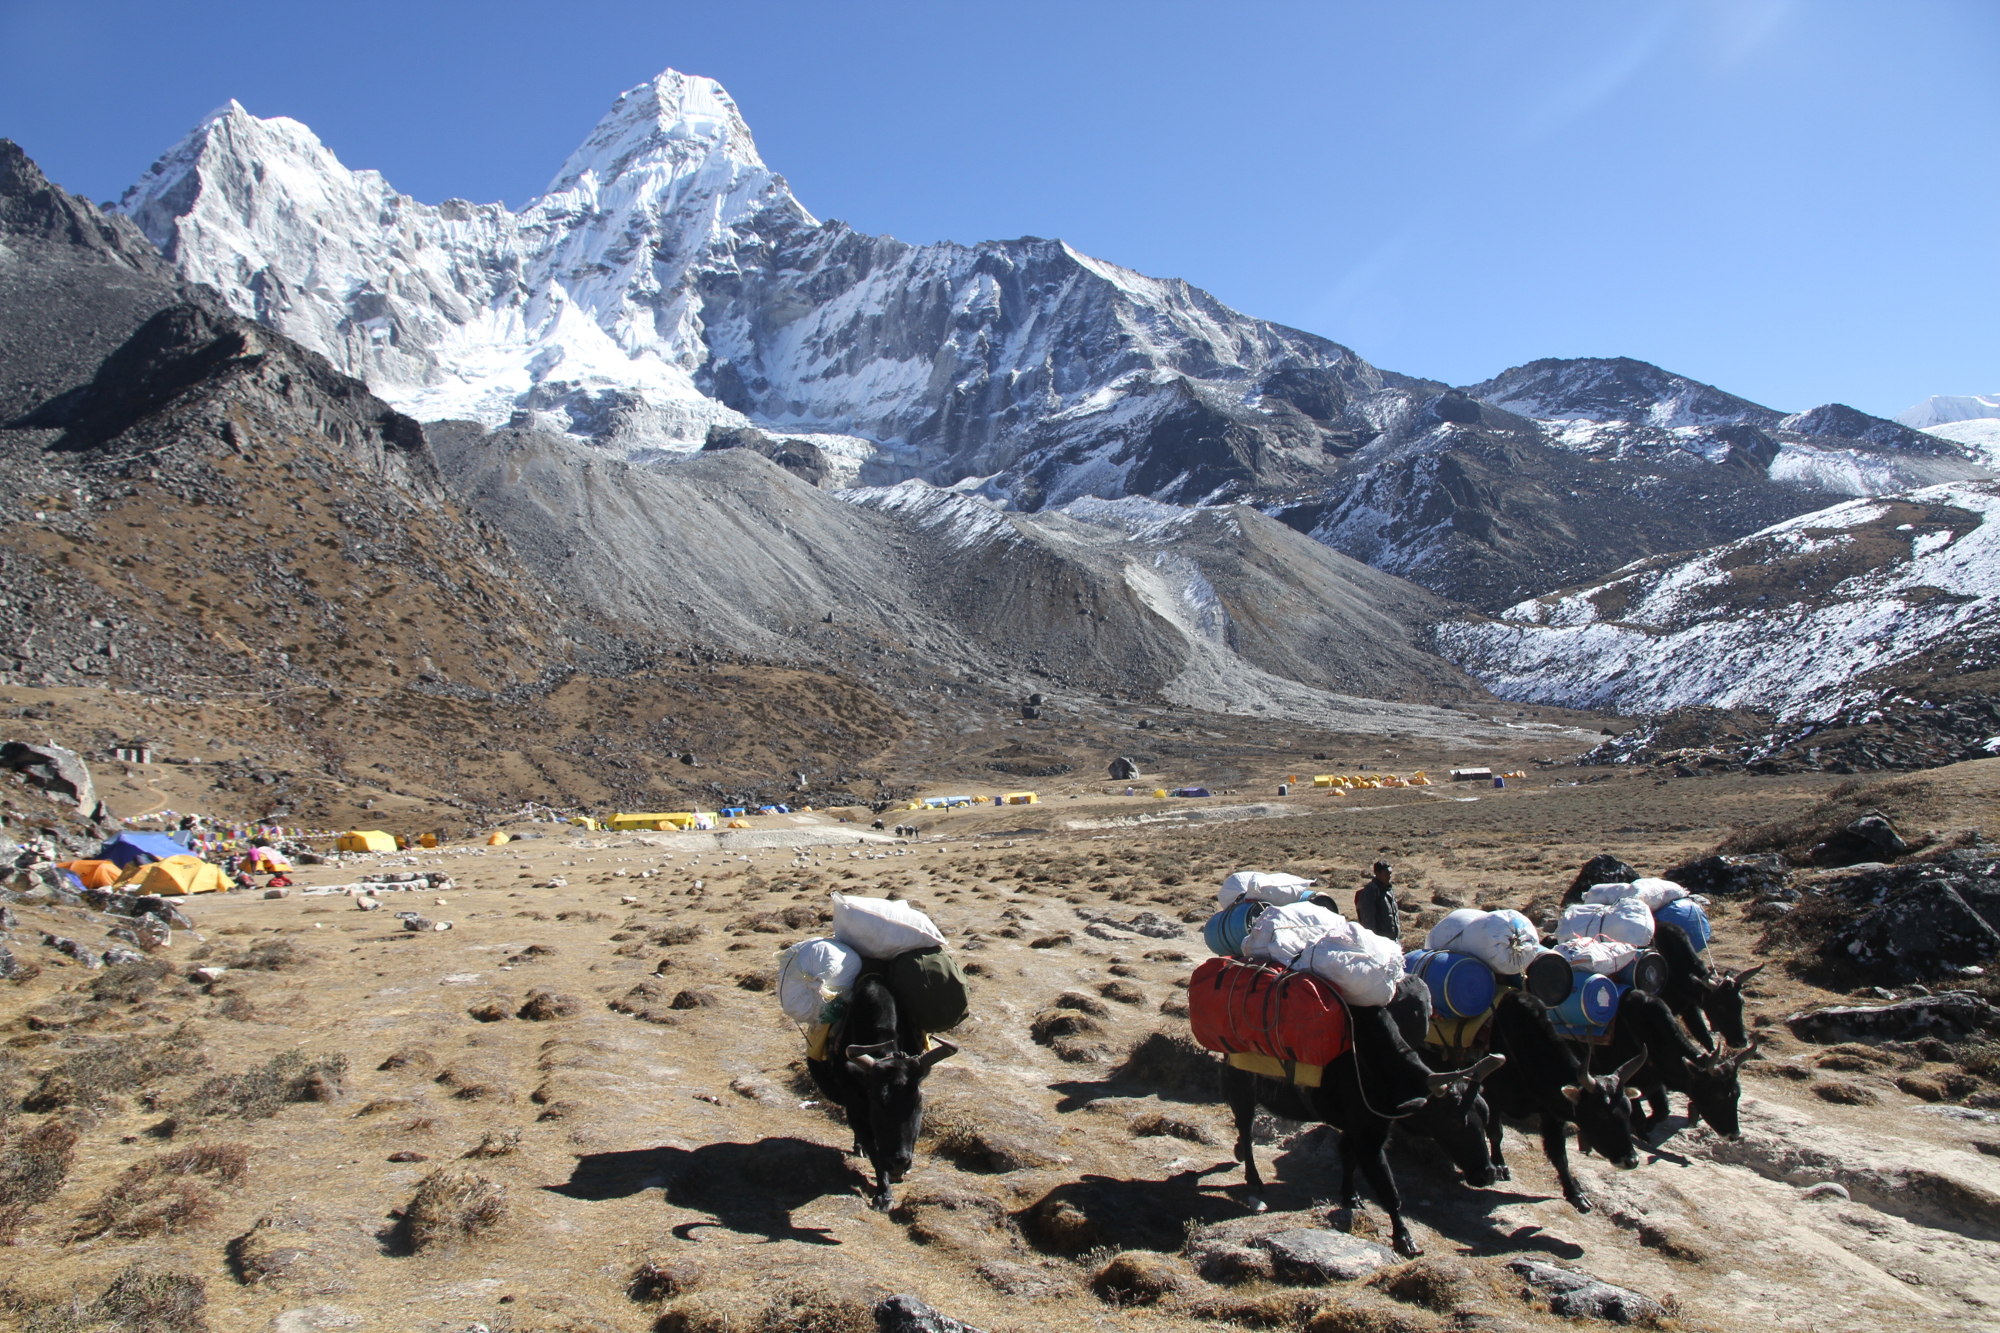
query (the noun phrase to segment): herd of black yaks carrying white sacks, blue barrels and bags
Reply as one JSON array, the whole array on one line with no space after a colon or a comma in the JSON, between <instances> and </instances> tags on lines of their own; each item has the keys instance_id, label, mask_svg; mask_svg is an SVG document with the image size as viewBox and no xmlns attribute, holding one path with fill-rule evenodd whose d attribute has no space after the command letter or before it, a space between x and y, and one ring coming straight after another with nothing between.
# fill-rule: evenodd
<instances>
[{"instance_id":1,"label":"herd of black yaks carrying white sacks, blue barrels and bags","mask_svg":"<svg viewBox=\"0 0 2000 1333\"><path fill-rule=\"evenodd\" d=\"M1402 1255L1420 1251L1388 1167L1394 1127L1432 1139L1468 1185L1488 1187L1510 1179L1502 1117L1538 1119L1578 1211L1592 1203L1570 1171L1572 1125L1586 1153L1618 1169L1640 1165L1636 1145L1670 1115L1670 1093L1688 1097L1690 1121L1740 1135L1738 1067L1756 1047L1744 987L1760 967L1712 967L1702 901L1678 885L1572 891L1550 937L1520 913L1454 911L1408 955L1340 917L1310 881L1232 875L1222 901L1252 923L1210 923L1218 957L1196 967L1188 1009L1194 1039L1224 1057L1256 1211L1258 1107L1340 1131L1342 1203L1356 1205L1360 1171ZM934 1033L964 1015L964 977L908 903L836 895L832 939L786 951L780 1003L808 1027L808 1069L846 1111L854 1153L874 1169L872 1203L888 1209L916 1155L924 1077L958 1053ZM1596 999L1578 1003L1584 989Z\"/></svg>"}]
</instances>

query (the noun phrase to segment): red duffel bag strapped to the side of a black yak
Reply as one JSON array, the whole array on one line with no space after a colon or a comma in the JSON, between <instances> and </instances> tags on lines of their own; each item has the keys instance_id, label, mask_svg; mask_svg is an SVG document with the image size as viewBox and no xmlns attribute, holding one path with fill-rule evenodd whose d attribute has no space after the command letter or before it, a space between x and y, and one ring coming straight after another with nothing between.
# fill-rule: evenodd
<instances>
[{"instance_id":1,"label":"red duffel bag strapped to the side of a black yak","mask_svg":"<svg viewBox=\"0 0 2000 1333\"><path fill-rule=\"evenodd\" d=\"M1312 973L1208 959L1188 983L1188 1023L1210 1051L1332 1065L1348 1051L1348 1007Z\"/></svg>"}]
</instances>

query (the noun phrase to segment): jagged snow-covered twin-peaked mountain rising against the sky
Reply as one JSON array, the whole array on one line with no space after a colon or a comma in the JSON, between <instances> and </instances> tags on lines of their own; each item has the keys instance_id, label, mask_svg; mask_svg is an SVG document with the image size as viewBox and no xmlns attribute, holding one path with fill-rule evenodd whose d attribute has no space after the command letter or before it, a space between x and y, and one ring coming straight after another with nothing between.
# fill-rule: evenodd
<instances>
[{"instance_id":1,"label":"jagged snow-covered twin-peaked mountain rising against the sky","mask_svg":"<svg viewBox=\"0 0 2000 1333\"><path fill-rule=\"evenodd\" d=\"M748 416L860 436L882 478L958 480L1118 382L1194 378L1242 402L1282 370L1330 416L1382 382L1324 338L1058 240L822 226L720 84L672 70L618 98L518 214L420 204L234 102L120 206L186 276L420 418L522 414L624 454L692 450Z\"/></svg>"}]
</instances>

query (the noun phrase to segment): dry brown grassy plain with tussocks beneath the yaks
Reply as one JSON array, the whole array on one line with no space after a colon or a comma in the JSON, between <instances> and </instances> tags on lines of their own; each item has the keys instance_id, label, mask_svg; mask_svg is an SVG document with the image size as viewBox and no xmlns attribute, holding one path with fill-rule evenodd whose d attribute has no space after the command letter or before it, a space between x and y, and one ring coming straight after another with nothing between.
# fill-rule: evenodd
<instances>
[{"instance_id":1,"label":"dry brown grassy plain with tussocks beneath the yaks","mask_svg":"<svg viewBox=\"0 0 2000 1333\"><path fill-rule=\"evenodd\" d=\"M1186 1033L1180 995L1206 951L1180 919L1222 875L1296 869L1346 895L1386 855L1428 923L1444 899L1546 905L1598 851L1666 869L1736 827L1808 813L1838 783L1546 785L1598 773L1570 769L1508 791L1262 795L1282 767L1244 761L1256 797L1196 803L1282 811L1228 823L1136 825L1168 803L1080 795L922 817L916 843L846 841L862 827L830 821L748 839L776 843L762 849L544 825L424 855L456 887L386 895L374 913L300 889L190 901L196 931L164 975L86 973L18 945L42 971L0 989L6 1099L28 1107L8 1119L8 1161L30 1161L38 1131L34 1161L60 1161L52 1125L76 1143L60 1183L14 1209L0 1323L844 1331L874 1327L872 1299L902 1291L994 1331L1574 1327L1520 1297L1510 1255L1658 1297L1690 1329L2000 1317L2000 1123L1896 1087L1982 1079L1792 1039L1774 1019L1832 997L1782 967L1752 989L1770 1059L1744 1079L1740 1143L1676 1117L1636 1173L1578 1159L1590 1215L1562 1201L1532 1127L1508 1131L1514 1179L1484 1191L1398 1145L1418 1265L1374 1285L1204 1281L1190 1257L1204 1229L1248 1225L1242 1171L1200 1071L1146 1039ZM1996 769L1860 799L1906 833L1994 837ZM926 1145L888 1215L864 1205L848 1135L814 1105L800 1035L766 991L830 891L922 905L976 973L962 1055L930 1083ZM452 929L406 931L396 911ZM16 941L90 937L82 913L16 913ZM1136 913L1182 933L1106 923ZM1762 927L1738 905L1716 915L1720 961L1754 961ZM204 965L230 971L192 981ZM1868 1105L1826 1101L1828 1083ZM1274 1217L1258 1227L1386 1233L1366 1195L1358 1215L1332 1209L1326 1131L1264 1129ZM1828 1179L1850 1197L1804 1195ZM196 1277L206 1305L190 1313L192 1287L136 1281L134 1265Z\"/></svg>"}]
</instances>

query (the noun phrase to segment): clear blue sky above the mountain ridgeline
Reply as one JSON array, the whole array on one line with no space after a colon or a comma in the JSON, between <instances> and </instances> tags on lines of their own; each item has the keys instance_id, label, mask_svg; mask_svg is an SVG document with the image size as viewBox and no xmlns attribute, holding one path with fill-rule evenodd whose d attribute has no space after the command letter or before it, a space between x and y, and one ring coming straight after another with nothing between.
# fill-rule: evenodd
<instances>
[{"instance_id":1,"label":"clear blue sky above the mountain ridgeline","mask_svg":"<svg viewBox=\"0 0 2000 1333\"><path fill-rule=\"evenodd\" d=\"M1376 364L2000 390L2000 4L0 0L0 134L112 198L236 98L520 204L672 66L822 218L1062 236Z\"/></svg>"}]
</instances>

